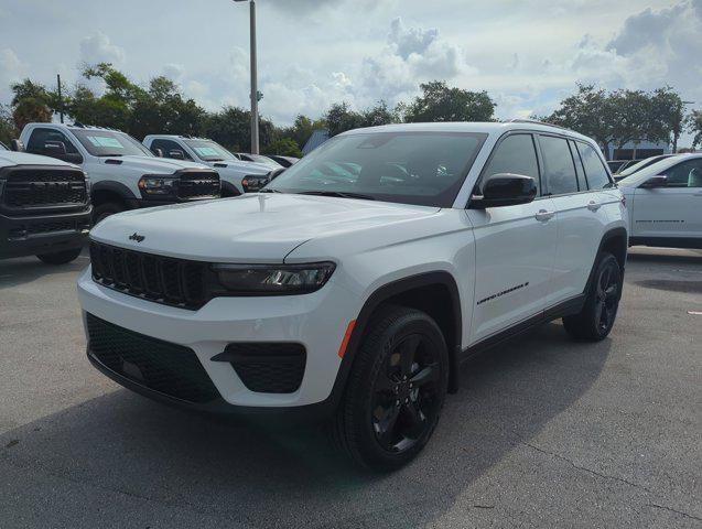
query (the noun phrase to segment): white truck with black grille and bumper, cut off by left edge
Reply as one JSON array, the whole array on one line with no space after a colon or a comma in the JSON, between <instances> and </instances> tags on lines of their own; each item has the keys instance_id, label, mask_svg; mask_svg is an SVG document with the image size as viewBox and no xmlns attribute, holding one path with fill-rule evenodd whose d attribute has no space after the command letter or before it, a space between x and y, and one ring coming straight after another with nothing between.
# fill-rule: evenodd
<instances>
[{"instance_id":1,"label":"white truck with black grille and bumper, cut off by left edge","mask_svg":"<svg viewBox=\"0 0 702 529\"><path fill-rule=\"evenodd\" d=\"M90 215L80 168L0 147L0 259L71 262L88 236Z\"/></svg>"}]
</instances>

